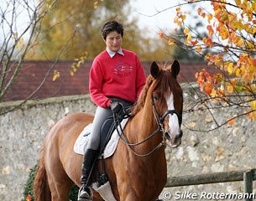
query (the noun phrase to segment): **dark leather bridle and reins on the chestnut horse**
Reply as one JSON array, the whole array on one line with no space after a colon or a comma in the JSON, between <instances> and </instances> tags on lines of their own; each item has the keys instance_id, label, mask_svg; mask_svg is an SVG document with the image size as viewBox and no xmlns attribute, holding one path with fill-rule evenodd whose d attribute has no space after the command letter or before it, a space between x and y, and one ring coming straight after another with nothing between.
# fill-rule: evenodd
<instances>
[{"instance_id":1,"label":"dark leather bridle and reins on the chestnut horse","mask_svg":"<svg viewBox=\"0 0 256 201\"><path fill-rule=\"evenodd\" d=\"M166 136L165 136L165 129L164 129L164 121L165 121L165 117L168 116L168 115L176 115L178 117L178 120L179 120L179 123L181 124L181 121L182 121L182 116L175 110L168 110L168 111L165 111L164 115L163 116L159 116L157 110L156 110L156 106L154 104L154 97L153 95L151 96L151 102L152 102L152 107L153 107L153 111L154 111L154 117L156 119L156 122L157 122L157 128L156 130L151 134L149 135L149 137L146 137L144 140L140 141L140 142L137 142L137 143L130 143L128 142L128 137L126 137L126 135L123 133L123 128L121 126L121 123L120 123L120 119L119 119L119 116L117 113L114 113L113 114L113 119L115 121L115 126L116 126L116 130L118 131L118 136L120 137L120 140L122 142L124 142L129 148L130 150L138 157L147 157L149 155L151 155L153 152L155 152L156 150L158 150L160 147L170 147L170 148L175 148L173 146L171 146L170 144L166 143ZM128 116L125 116L124 118L128 118ZM121 132L121 133L120 133ZM133 147L135 146L138 146L144 142L147 142L150 138L154 137L154 135L156 135L157 133L161 132L162 133L162 141L159 142L159 144L154 147L151 151L149 151L148 153L144 153L144 154L140 154L140 153L137 153L133 150ZM124 139L123 139L124 138Z\"/></svg>"}]
</instances>

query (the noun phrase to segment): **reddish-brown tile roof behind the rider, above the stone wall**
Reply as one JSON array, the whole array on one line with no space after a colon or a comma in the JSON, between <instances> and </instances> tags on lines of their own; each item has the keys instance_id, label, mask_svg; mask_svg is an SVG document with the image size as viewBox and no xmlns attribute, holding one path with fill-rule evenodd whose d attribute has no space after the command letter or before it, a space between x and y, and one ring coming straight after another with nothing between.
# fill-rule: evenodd
<instances>
[{"instance_id":1,"label":"reddish-brown tile roof behind the rider, above the stone wall","mask_svg":"<svg viewBox=\"0 0 256 201\"><path fill-rule=\"evenodd\" d=\"M61 95L84 95L88 93L88 78L91 68L91 61L86 61L81 65L74 76L70 75L73 61L26 61L20 73L6 94L4 101L16 101L26 99L43 82L44 76L49 71L49 75L33 95L32 99L42 99ZM143 62L146 75L149 75L151 62ZM207 67L206 64L180 63L181 82L196 81L195 74L203 68L209 69L209 73L216 73L214 68ZM53 81L54 70L60 72L60 78Z\"/></svg>"}]
</instances>

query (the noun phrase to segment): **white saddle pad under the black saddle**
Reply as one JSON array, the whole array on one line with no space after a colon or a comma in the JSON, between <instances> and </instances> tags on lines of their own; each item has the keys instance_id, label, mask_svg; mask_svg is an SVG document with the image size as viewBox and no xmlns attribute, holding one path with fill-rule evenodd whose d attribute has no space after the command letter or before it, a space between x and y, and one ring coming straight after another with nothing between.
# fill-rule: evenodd
<instances>
[{"instance_id":1,"label":"white saddle pad under the black saddle","mask_svg":"<svg viewBox=\"0 0 256 201\"><path fill-rule=\"evenodd\" d=\"M124 129L126 123L128 121L127 119L123 119L123 121L121 122L121 126ZM88 126L86 126L84 128L83 131L81 131L79 137L77 137L75 145L74 145L74 152L84 155L86 147L87 147L87 143L91 137L91 126L92 124L89 124ZM121 133L120 128L118 127L118 131L119 133ZM107 146L104 150L104 158L107 157L111 157L112 154L115 152L117 146L118 146L118 140L119 140L119 135L118 135L118 131L115 130L112 133L112 137L110 138L109 142L107 142Z\"/></svg>"}]
</instances>

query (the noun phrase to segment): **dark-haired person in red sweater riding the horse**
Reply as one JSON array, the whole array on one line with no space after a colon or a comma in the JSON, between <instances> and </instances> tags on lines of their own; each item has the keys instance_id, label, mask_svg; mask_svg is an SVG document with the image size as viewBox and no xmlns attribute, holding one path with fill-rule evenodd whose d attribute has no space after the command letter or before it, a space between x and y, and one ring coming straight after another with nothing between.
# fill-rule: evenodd
<instances>
[{"instance_id":1,"label":"dark-haired person in red sweater riding the horse","mask_svg":"<svg viewBox=\"0 0 256 201\"><path fill-rule=\"evenodd\" d=\"M89 90L91 100L97 105L97 111L82 162L79 201L92 200L91 181L88 181L88 176L97 157L102 124L112 116L113 102L118 99L133 104L146 80L137 54L121 48L123 40L121 23L117 21L105 23L102 27L102 37L107 48L93 60L90 71Z\"/></svg>"}]
</instances>

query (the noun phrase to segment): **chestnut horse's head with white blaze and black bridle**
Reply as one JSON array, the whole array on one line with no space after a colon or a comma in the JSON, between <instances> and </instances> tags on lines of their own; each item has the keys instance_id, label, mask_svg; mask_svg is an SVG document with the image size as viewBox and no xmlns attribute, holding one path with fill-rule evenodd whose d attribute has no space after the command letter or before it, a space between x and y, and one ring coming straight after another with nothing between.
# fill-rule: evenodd
<instances>
[{"instance_id":1,"label":"chestnut horse's head with white blaze and black bridle","mask_svg":"<svg viewBox=\"0 0 256 201\"><path fill-rule=\"evenodd\" d=\"M177 82L179 72L180 64L177 60L166 68L153 62L150 68L152 84L149 89L152 89L148 91L148 95L151 94L157 123L172 147L178 147L182 137L180 126L183 97L181 87Z\"/></svg>"}]
</instances>

